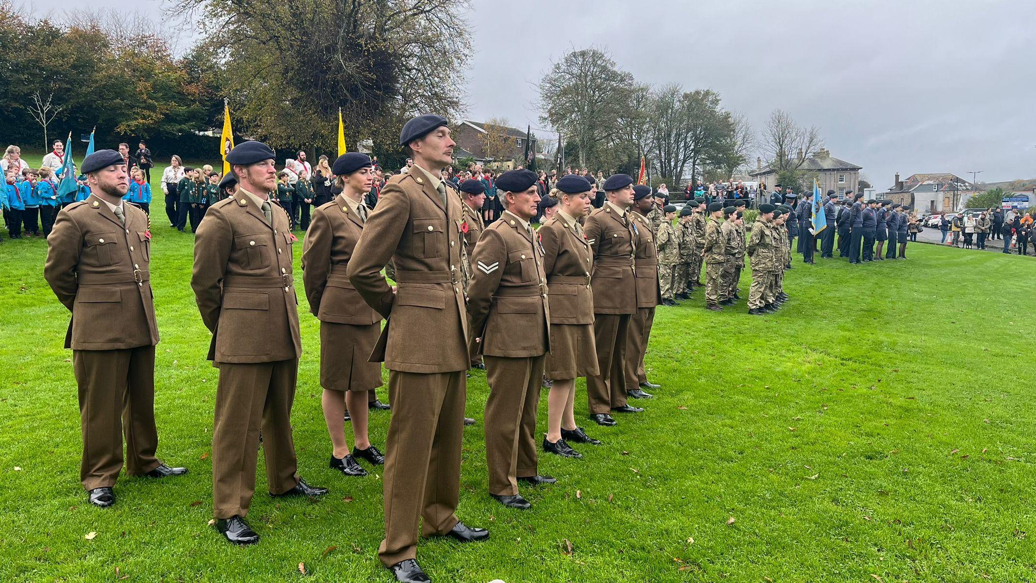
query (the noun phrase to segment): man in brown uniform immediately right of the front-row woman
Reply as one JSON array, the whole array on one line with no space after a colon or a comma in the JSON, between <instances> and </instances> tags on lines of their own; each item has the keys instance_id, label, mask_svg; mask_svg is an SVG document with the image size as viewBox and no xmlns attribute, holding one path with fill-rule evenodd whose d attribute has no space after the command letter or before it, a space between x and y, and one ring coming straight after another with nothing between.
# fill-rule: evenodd
<instances>
[{"instance_id":1,"label":"man in brown uniform immediately right of the front-row woman","mask_svg":"<svg viewBox=\"0 0 1036 583\"><path fill-rule=\"evenodd\" d=\"M604 183L607 201L586 217L583 232L594 248L594 340L599 373L586 377L591 418L599 425L614 425L611 412L639 413L626 402L627 336L630 318L637 313L634 247L637 233L629 217L633 205L633 178L609 176Z\"/></svg>"}]
</instances>

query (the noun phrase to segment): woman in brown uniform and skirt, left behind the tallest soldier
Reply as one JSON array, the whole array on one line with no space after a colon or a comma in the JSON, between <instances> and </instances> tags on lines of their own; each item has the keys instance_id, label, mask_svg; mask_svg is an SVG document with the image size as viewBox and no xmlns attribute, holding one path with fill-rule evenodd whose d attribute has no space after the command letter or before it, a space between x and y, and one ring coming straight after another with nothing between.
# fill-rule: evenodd
<instances>
[{"instance_id":1,"label":"woman in brown uniform and skirt, left behind the tallest soldier","mask_svg":"<svg viewBox=\"0 0 1036 583\"><path fill-rule=\"evenodd\" d=\"M329 464L348 476L367 475L356 457L384 464L367 432L368 394L381 386L381 365L368 361L381 335L381 314L364 303L345 275L370 212L364 196L374 183L373 168L371 159L356 151L335 161L342 192L313 212L303 242L306 297L320 320L321 406L334 447ZM352 412L351 453L345 440L346 405Z\"/></svg>"}]
</instances>

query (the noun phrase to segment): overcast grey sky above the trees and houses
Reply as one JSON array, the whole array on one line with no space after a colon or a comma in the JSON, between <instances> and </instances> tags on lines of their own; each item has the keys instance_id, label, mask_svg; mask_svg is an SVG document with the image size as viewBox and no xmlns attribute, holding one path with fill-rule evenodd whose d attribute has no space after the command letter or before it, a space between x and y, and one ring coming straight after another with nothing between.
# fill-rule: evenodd
<instances>
[{"instance_id":1,"label":"overcast grey sky above the trees and houses","mask_svg":"<svg viewBox=\"0 0 1036 583\"><path fill-rule=\"evenodd\" d=\"M136 5L161 12L155 0ZM879 189L897 171L1036 177L1029 0L473 0L470 22L476 120L536 127L536 82L594 46L640 82L718 91L757 132L775 108L815 124Z\"/></svg>"}]
</instances>

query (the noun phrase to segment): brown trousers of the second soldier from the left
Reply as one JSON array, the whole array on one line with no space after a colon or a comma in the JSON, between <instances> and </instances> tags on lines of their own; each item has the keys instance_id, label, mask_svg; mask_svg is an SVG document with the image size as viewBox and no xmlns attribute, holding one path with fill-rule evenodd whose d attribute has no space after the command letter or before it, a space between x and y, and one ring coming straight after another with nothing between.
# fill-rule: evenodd
<instances>
[{"instance_id":1,"label":"brown trousers of the second soldier from the left","mask_svg":"<svg viewBox=\"0 0 1036 583\"><path fill-rule=\"evenodd\" d=\"M220 363L212 427L212 515L248 516L256 491L259 429L266 459L266 487L284 494L298 483L291 440L291 404L298 359Z\"/></svg>"}]
</instances>

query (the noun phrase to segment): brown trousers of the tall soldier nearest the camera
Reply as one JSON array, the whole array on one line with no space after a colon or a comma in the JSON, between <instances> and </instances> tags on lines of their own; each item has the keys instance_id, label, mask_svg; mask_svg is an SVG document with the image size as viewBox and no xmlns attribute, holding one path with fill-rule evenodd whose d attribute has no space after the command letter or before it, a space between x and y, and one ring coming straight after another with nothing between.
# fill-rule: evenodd
<instances>
[{"instance_id":1,"label":"brown trousers of the tall soldier nearest the camera","mask_svg":"<svg viewBox=\"0 0 1036 583\"><path fill-rule=\"evenodd\" d=\"M385 537L378 548L385 566L416 556L422 517L424 536L445 534L457 524L466 392L464 370L388 371Z\"/></svg>"}]
</instances>

